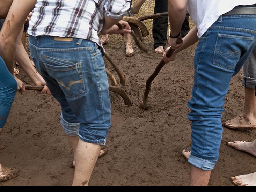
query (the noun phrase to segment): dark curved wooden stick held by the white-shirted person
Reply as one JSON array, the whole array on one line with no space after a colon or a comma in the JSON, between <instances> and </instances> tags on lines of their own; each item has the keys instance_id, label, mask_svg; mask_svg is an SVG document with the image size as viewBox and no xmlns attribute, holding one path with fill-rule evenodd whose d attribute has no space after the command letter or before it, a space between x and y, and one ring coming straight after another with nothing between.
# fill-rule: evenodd
<instances>
[{"instance_id":1,"label":"dark curved wooden stick held by the white-shirted person","mask_svg":"<svg viewBox=\"0 0 256 192\"><path fill-rule=\"evenodd\" d=\"M179 38L177 40L177 43L179 44L181 42L182 42L182 39ZM166 53L166 56L171 57L171 55L173 54L174 51L175 51L174 49L170 48L168 50L168 52ZM158 75L158 73L160 72L160 70L163 68L164 65L165 65L165 62L162 59L160 61L160 63L158 64L158 66L156 66L155 71L152 73L152 75L150 75L148 77L147 82L146 82L146 89L145 89L144 96L143 96L143 101L140 103L140 108L143 108L144 110L148 110L148 94L151 89L151 83L155 79L156 75Z\"/></svg>"}]
</instances>

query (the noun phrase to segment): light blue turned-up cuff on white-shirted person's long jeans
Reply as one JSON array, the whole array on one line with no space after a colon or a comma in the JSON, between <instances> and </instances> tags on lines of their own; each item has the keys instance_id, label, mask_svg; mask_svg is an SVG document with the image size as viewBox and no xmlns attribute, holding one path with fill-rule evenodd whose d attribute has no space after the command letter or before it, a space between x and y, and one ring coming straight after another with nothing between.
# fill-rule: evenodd
<instances>
[{"instance_id":1,"label":"light blue turned-up cuff on white-shirted person's long jeans","mask_svg":"<svg viewBox=\"0 0 256 192\"><path fill-rule=\"evenodd\" d=\"M190 155L188 162L199 169L209 171L213 170L217 160L202 159L193 155Z\"/></svg>"}]
</instances>

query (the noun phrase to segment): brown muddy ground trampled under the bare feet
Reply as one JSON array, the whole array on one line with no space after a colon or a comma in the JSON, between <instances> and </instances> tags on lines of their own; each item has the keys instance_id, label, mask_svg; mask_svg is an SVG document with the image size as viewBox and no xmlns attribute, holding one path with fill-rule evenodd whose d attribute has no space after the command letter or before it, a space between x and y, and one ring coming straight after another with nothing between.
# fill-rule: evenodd
<instances>
[{"instance_id":1,"label":"brown muddy ground trampled under the bare feet","mask_svg":"<svg viewBox=\"0 0 256 192\"><path fill-rule=\"evenodd\" d=\"M153 13L154 1L148 0L140 14ZM144 44L149 52L134 45L135 56L125 57L124 38L113 35L105 49L123 69L132 106L110 93L112 126L104 147L108 153L98 159L89 185L188 185L190 164L181 156L190 148L190 121L186 118L193 85L193 55L196 46L180 53L175 62L163 67L152 83L149 110L139 108L145 82L161 60L154 53L152 20L144 22L150 35ZM192 24L192 23L191 23ZM118 77L108 61L107 68ZM18 77L32 84L20 67ZM222 121L239 115L243 109L244 88L234 76L226 96ZM118 78L117 78L118 79ZM119 84L120 86L120 84ZM20 169L6 185L71 185L74 169L72 149L60 124L61 109L51 95L36 91L17 93L1 134L0 162ZM220 158L209 185L233 185L230 177L256 171L256 158L226 145L228 141L252 141L255 131L224 128Z\"/></svg>"}]
</instances>

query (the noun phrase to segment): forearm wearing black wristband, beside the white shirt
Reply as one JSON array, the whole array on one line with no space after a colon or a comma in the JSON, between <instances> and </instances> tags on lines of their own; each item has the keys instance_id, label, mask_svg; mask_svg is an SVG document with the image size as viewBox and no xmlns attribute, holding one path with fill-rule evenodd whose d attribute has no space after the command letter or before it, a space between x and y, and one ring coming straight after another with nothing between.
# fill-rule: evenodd
<instances>
[{"instance_id":1,"label":"forearm wearing black wristband, beside the white shirt","mask_svg":"<svg viewBox=\"0 0 256 192\"><path fill-rule=\"evenodd\" d=\"M171 35L177 36L186 17L188 0L168 0L168 15Z\"/></svg>"}]
</instances>

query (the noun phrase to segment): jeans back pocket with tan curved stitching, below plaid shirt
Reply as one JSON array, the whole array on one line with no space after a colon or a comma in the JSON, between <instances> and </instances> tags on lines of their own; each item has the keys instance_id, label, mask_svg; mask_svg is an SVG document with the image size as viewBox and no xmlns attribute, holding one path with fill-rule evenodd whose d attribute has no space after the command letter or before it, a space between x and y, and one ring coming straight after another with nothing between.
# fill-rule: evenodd
<instances>
[{"instance_id":1,"label":"jeans back pocket with tan curved stitching, below plaid shirt","mask_svg":"<svg viewBox=\"0 0 256 192\"><path fill-rule=\"evenodd\" d=\"M82 63L72 64L70 61L58 58L45 57L44 66L50 77L55 79L65 94L70 98L76 98L85 92ZM56 63L56 64L54 64Z\"/></svg>"}]
</instances>

